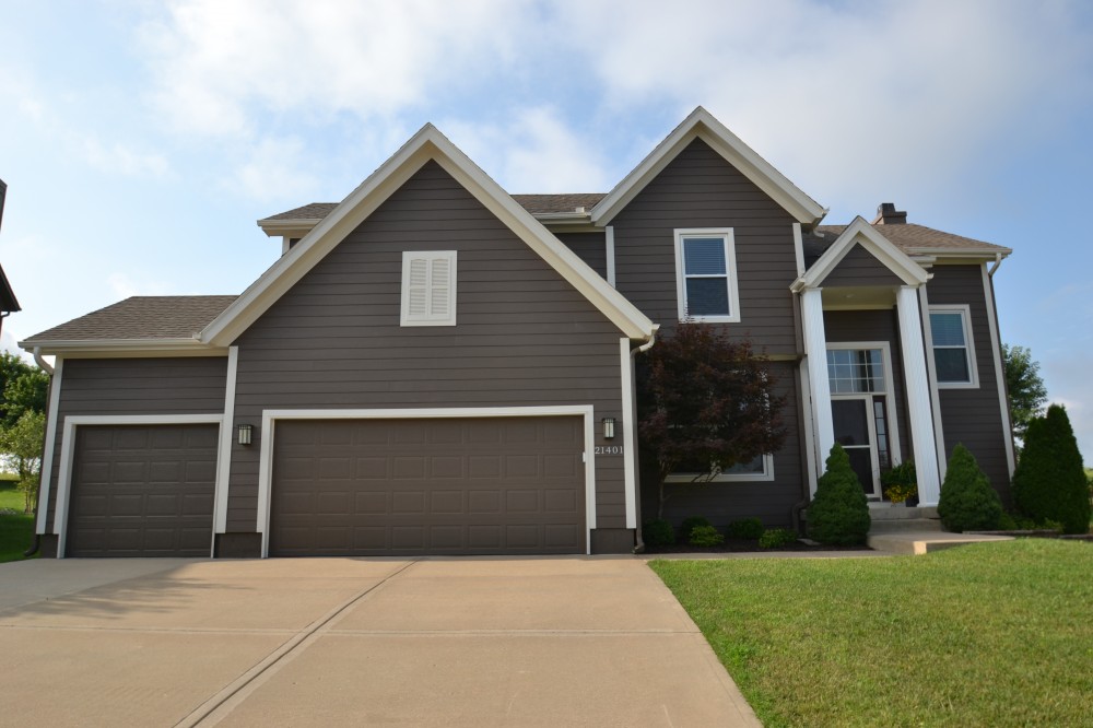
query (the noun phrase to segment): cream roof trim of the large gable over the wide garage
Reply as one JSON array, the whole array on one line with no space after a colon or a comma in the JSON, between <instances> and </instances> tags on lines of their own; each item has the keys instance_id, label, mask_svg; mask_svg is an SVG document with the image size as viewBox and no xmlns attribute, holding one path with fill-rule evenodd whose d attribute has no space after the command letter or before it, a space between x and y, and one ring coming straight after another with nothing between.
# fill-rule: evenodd
<instances>
[{"instance_id":1,"label":"cream roof trim of the large gable over the wide garage","mask_svg":"<svg viewBox=\"0 0 1093 728\"><path fill-rule=\"evenodd\" d=\"M364 222L426 162L436 161L631 339L656 330L632 303L520 207L436 127L426 124L201 332L226 347Z\"/></svg>"}]
</instances>

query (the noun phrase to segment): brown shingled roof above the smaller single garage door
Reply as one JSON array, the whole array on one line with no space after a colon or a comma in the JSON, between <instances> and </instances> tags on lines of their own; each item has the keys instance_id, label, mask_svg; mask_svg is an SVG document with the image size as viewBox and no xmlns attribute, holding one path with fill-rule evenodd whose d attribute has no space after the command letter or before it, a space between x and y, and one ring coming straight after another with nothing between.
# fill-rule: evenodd
<instances>
[{"instance_id":1,"label":"brown shingled roof above the smaller single garage door","mask_svg":"<svg viewBox=\"0 0 1093 728\"><path fill-rule=\"evenodd\" d=\"M193 340L238 296L132 296L61 324L30 339L23 348L66 342L149 342Z\"/></svg>"}]
</instances>

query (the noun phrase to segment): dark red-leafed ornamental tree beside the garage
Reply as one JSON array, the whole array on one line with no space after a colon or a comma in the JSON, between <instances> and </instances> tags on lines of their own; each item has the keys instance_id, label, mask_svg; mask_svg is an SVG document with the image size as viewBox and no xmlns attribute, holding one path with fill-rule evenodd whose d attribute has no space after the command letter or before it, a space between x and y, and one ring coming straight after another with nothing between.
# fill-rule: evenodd
<instances>
[{"instance_id":1,"label":"dark red-leafed ornamental tree beside the garage","mask_svg":"<svg viewBox=\"0 0 1093 728\"><path fill-rule=\"evenodd\" d=\"M774 453L786 439L775 377L748 341L722 327L683 321L638 360L638 437L656 458L663 518L673 472L707 482L737 463Z\"/></svg>"}]
</instances>

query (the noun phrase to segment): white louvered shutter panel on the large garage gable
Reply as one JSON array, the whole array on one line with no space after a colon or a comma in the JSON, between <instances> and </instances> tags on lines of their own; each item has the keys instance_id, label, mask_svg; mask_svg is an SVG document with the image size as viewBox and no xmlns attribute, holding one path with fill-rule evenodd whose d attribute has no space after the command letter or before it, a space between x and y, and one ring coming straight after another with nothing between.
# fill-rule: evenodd
<instances>
[{"instance_id":1,"label":"white louvered shutter panel on the large garage gable","mask_svg":"<svg viewBox=\"0 0 1093 728\"><path fill-rule=\"evenodd\" d=\"M402 254L401 325L456 325L455 250Z\"/></svg>"}]
</instances>

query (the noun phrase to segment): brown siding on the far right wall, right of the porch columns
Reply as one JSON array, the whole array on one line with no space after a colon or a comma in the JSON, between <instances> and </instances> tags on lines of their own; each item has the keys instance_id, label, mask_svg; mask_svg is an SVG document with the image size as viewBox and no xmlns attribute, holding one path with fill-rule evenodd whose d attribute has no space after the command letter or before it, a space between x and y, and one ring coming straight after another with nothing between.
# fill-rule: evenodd
<instances>
[{"instance_id":1,"label":"brown siding on the far right wall, right of the porch columns","mask_svg":"<svg viewBox=\"0 0 1093 728\"><path fill-rule=\"evenodd\" d=\"M945 451L951 456L956 443L963 443L975 456L979 467L990 478L1002 497L1010 493L1010 472L1006 456L1002 412L998 402L998 377L990 342L987 300L979 266L935 266L933 279L927 284L930 304L967 304L972 315L972 337L975 343L977 389L940 389L941 422ZM930 353L932 355L932 352Z\"/></svg>"}]
</instances>

